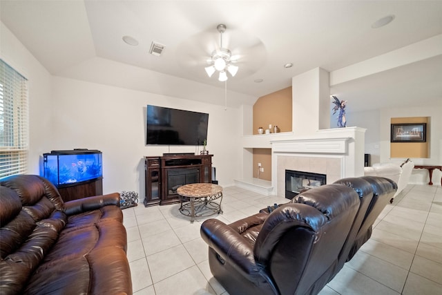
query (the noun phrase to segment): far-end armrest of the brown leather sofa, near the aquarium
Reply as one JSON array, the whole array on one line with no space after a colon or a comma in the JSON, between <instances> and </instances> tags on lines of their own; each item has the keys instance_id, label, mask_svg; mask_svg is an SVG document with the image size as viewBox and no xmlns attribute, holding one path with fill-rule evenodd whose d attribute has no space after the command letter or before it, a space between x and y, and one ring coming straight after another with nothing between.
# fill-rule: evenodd
<instances>
[{"instance_id":1,"label":"far-end armrest of the brown leather sofa, near the aquarium","mask_svg":"<svg viewBox=\"0 0 442 295\"><path fill-rule=\"evenodd\" d=\"M119 193L109 193L103 196L93 196L65 202L64 212L67 215L74 215L108 205L119 206Z\"/></svg>"}]
</instances>

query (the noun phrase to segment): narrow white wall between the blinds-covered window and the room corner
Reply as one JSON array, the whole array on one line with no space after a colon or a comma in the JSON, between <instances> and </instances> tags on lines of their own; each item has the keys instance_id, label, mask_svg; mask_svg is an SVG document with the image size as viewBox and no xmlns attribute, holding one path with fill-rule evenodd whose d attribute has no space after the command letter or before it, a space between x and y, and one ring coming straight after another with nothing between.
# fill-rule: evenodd
<instances>
[{"instance_id":1,"label":"narrow white wall between the blinds-covered window and the room corner","mask_svg":"<svg viewBox=\"0 0 442 295\"><path fill-rule=\"evenodd\" d=\"M39 160L50 151L52 138L52 77L39 61L0 23L0 57L28 79L29 169L39 174Z\"/></svg>"}]
</instances>

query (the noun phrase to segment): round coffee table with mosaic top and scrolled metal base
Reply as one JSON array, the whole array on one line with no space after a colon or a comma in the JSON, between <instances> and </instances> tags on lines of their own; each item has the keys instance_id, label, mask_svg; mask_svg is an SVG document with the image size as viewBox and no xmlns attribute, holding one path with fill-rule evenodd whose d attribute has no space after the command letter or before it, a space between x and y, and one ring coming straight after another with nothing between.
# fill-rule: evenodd
<instances>
[{"instance_id":1,"label":"round coffee table with mosaic top and scrolled metal base","mask_svg":"<svg viewBox=\"0 0 442 295\"><path fill-rule=\"evenodd\" d=\"M180 212L190 216L191 223L197 217L211 216L222 213L222 187L211 183L191 183L178 187L180 196ZM220 199L219 202L215 200Z\"/></svg>"}]
</instances>

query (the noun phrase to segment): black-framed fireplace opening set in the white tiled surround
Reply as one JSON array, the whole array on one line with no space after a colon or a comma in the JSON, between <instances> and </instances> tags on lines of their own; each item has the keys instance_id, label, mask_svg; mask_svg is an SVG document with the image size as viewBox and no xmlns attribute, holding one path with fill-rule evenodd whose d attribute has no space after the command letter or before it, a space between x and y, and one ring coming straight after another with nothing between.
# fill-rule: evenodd
<instances>
[{"instance_id":1,"label":"black-framed fireplace opening set in the white tiled surround","mask_svg":"<svg viewBox=\"0 0 442 295\"><path fill-rule=\"evenodd\" d=\"M302 191L320 187L325 184L325 180L325 174L286 170L285 198L291 200Z\"/></svg>"}]
</instances>

